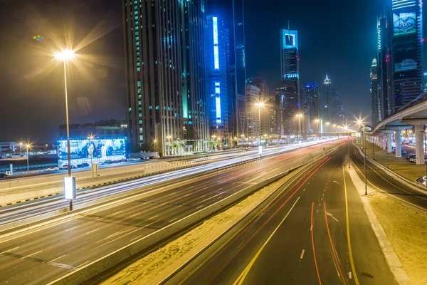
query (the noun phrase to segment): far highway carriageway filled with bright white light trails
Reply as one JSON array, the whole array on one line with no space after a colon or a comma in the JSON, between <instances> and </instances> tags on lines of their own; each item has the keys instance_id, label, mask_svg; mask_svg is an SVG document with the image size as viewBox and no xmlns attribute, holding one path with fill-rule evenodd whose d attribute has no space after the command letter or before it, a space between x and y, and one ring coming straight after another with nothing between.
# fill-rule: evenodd
<instances>
[{"instance_id":1,"label":"far highway carriageway filled with bright white light trails","mask_svg":"<svg viewBox=\"0 0 427 285\"><path fill-rule=\"evenodd\" d=\"M305 143L305 145L315 144L315 142ZM289 151L297 148L293 147L272 147L265 150L265 155L274 155L284 151ZM228 157L229 155L226 155ZM222 156L221 156L222 157ZM147 192L155 188L154 185L158 183L174 183L174 180L181 179L182 177L190 175L200 175L206 171L212 170L216 167L223 167L231 165L236 162L243 160L251 160L259 157L258 150L247 152L245 155L241 153L233 154L228 157L227 160L211 162L207 165L200 165L195 167L189 167L184 170L174 170L159 175L152 175L149 177L142 177L135 180L126 182L119 182L114 185L107 185L103 187L96 187L93 189L78 190L77 199L73 201L74 207L79 204L83 204L88 201L93 201L102 197L107 197L113 194L122 192L129 192L131 190L141 190L140 192ZM214 156L213 158L218 158ZM149 187L152 186L152 187ZM142 187L145 187L142 189ZM68 200L63 199L63 195L55 195L51 197L45 197L42 199L32 200L29 202L23 202L20 204L12 204L7 207L0 208L0 225L10 222L15 222L19 219L33 217L38 214L51 212L58 209L64 209L68 207Z\"/></svg>"}]
</instances>

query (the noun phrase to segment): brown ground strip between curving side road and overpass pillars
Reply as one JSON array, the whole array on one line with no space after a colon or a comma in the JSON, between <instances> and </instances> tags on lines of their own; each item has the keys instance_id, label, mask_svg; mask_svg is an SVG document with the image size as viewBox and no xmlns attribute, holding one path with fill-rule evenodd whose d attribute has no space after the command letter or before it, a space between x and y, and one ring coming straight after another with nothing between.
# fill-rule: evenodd
<instances>
[{"instance_id":1,"label":"brown ground strip between curving side road and overpass pillars","mask_svg":"<svg viewBox=\"0 0 427 285\"><path fill-rule=\"evenodd\" d=\"M360 146L359 144L357 145ZM367 156L373 158L372 143L365 142L365 147L367 147ZM426 167L424 165L415 165L415 163L409 162L409 160L406 160L405 158L406 155L396 157L394 152L387 155L387 151L383 150L382 147L377 145L374 145L374 147L375 161L381 163L384 167L389 167L389 170L392 170L411 181L415 181L417 178L426 175Z\"/></svg>"}]
</instances>

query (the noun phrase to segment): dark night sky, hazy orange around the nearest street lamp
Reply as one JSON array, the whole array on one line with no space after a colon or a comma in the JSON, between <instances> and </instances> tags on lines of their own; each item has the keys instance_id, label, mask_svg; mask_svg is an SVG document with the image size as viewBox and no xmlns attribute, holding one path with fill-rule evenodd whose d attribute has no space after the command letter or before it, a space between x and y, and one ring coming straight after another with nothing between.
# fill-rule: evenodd
<instances>
[{"instance_id":1,"label":"dark night sky, hazy orange around the nearest street lamp","mask_svg":"<svg viewBox=\"0 0 427 285\"><path fill-rule=\"evenodd\" d=\"M227 1L209 0L208 9ZM275 88L279 30L290 21L299 33L301 84L320 84L328 73L349 117L370 118L379 1L246 0L247 77ZM65 34L76 46L105 33L78 51L90 61L69 68L70 123L125 119L121 24L120 0L0 0L0 141L56 140L65 123L63 66L48 51L65 43ZM38 35L43 40L33 39Z\"/></svg>"}]
</instances>

